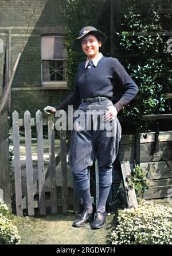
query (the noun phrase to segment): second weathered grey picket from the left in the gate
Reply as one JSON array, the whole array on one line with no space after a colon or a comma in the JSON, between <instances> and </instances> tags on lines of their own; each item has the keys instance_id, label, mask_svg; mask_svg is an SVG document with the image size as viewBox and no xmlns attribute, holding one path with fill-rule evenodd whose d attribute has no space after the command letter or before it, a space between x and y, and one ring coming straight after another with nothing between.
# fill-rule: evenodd
<instances>
[{"instance_id":1,"label":"second weathered grey picket from the left in the gate","mask_svg":"<svg viewBox=\"0 0 172 256\"><path fill-rule=\"evenodd\" d=\"M30 126L30 112L26 111L25 119L25 145L26 145L26 178L28 193L28 214L34 215L34 194L33 194L33 166L32 166L32 136Z\"/></svg>"}]
</instances>

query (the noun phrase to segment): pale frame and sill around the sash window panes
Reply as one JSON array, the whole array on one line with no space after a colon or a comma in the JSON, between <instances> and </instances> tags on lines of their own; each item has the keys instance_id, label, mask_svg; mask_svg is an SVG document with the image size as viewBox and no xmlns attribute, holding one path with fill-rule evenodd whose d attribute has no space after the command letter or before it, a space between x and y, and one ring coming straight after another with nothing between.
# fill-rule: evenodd
<instances>
[{"instance_id":1,"label":"pale frame and sill around the sash window panes","mask_svg":"<svg viewBox=\"0 0 172 256\"><path fill-rule=\"evenodd\" d=\"M43 70L42 70L42 61L64 61L67 62L67 59L43 59L42 58L42 38L43 37L62 37L64 34L61 33L46 33L41 35L41 89L43 90L52 90L52 89L68 89L67 80L65 81L43 81Z\"/></svg>"}]
</instances>

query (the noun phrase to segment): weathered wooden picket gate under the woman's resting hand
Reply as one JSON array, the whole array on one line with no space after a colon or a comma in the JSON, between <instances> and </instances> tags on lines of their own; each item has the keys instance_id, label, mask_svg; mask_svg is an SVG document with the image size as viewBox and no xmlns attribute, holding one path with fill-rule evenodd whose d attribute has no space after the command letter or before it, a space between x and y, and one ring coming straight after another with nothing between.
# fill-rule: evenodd
<instances>
[{"instance_id":1,"label":"weathered wooden picket gate under the woman's resting hand","mask_svg":"<svg viewBox=\"0 0 172 256\"><path fill-rule=\"evenodd\" d=\"M73 210L79 210L79 195L73 187L73 199L68 197L67 180L67 151L70 141L66 140L66 131L60 131L61 152L55 156L54 145L54 115L48 116L48 143L49 143L49 166L44 167L44 144L43 144L43 124L42 113L36 113L36 119L30 117L30 112L26 111L24 119L19 119L18 112L13 112L13 144L14 144L14 177L15 177L15 202L17 216L23 215L23 209L28 209L30 216L34 215L34 208L40 209L40 214L46 214L46 206L50 206L51 213L57 213L57 206L62 206L62 212L68 211L68 205L73 204ZM27 194L22 193L21 182L21 156L19 142L19 127L25 127L25 152L26 152L26 182ZM33 164L32 164L32 135L31 127L37 130L37 164L38 180L33 183ZM57 199L56 190L56 167L61 162L62 174L62 195ZM50 199L45 199L45 180L50 177ZM34 195L38 194L39 199L35 200Z\"/></svg>"}]
</instances>

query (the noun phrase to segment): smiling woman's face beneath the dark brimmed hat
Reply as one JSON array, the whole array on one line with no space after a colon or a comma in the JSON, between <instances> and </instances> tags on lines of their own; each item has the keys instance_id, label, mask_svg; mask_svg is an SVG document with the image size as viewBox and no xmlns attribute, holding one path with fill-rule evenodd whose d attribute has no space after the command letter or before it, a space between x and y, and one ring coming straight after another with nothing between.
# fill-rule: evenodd
<instances>
[{"instance_id":1,"label":"smiling woman's face beneath the dark brimmed hat","mask_svg":"<svg viewBox=\"0 0 172 256\"><path fill-rule=\"evenodd\" d=\"M93 59L99 54L99 47L101 47L101 42L93 35L88 35L81 41L81 46L84 54L87 55L89 59Z\"/></svg>"}]
</instances>

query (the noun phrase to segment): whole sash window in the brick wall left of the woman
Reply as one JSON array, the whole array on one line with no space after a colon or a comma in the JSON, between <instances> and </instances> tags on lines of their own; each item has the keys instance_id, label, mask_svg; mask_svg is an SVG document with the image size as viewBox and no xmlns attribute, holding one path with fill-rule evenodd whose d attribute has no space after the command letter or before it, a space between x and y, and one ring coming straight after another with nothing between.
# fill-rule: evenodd
<instances>
[{"instance_id":1,"label":"whole sash window in the brick wall left of the woman","mask_svg":"<svg viewBox=\"0 0 172 256\"><path fill-rule=\"evenodd\" d=\"M41 36L42 87L45 89L67 89L66 51L64 37Z\"/></svg>"}]
</instances>

